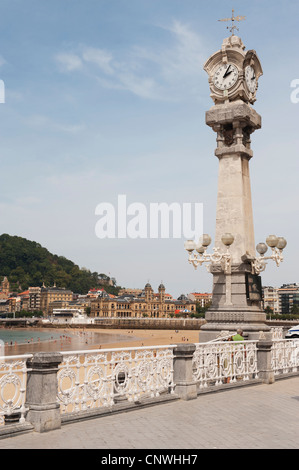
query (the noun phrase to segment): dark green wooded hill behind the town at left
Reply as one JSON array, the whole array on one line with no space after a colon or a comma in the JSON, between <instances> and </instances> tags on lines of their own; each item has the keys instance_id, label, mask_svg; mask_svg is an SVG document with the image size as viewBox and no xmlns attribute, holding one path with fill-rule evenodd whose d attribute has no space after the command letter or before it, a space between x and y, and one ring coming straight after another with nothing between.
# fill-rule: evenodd
<instances>
[{"instance_id":1,"label":"dark green wooded hill behind the town at left","mask_svg":"<svg viewBox=\"0 0 299 470\"><path fill-rule=\"evenodd\" d=\"M26 238L3 234L0 236L0 277L7 276L11 290L21 292L29 286L52 286L71 289L86 294L89 289L99 287L104 274L80 269L64 256L53 255L39 243ZM109 279L109 278L108 278ZM105 287L116 294L116 286Z\"/></svg>"}]
</instances>

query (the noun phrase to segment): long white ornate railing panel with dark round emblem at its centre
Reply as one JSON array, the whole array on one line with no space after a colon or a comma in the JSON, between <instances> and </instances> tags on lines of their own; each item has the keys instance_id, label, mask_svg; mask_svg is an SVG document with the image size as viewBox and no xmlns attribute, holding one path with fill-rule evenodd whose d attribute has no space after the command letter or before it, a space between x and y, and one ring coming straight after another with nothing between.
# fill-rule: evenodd
<instances>
[{"instance_id":1,"label":"long white ornate railing panel with dark round emblem at its centre","mask_svg":"<svg viewBox=\"0 0 299 470\"><path fill-rule=\"evenodd\" d=\"M106 349L62 352L58 402L62 413L111 406L118 398L173 393L173 348Z\"/></svg>"}]
</instances>

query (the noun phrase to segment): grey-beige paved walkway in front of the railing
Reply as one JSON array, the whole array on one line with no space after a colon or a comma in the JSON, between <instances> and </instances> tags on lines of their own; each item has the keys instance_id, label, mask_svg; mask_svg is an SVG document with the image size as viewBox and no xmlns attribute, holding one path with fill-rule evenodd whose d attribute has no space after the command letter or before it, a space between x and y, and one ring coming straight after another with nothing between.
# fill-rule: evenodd
<instances>
[{"instance_id":1,"label":"grey-beige paved walkway in front of the railing","mask_svg":"<svg viewBox=\"0 0 299 470\"><path fill-rule=\"evenodd\" d=\"M298 449L299 377L0 440L0 449Z\"/></svg>"}]
</instances>

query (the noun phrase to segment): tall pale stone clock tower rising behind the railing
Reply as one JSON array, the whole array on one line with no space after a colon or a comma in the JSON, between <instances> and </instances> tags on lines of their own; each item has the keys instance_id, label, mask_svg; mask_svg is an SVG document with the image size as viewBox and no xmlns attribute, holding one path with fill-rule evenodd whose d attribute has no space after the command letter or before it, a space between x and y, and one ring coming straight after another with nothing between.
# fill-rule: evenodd
<instances>
[{"instance_id":1,"label":"tall pale stone clock tower rising behind the railing","mask_svg":"<svg viewBox=\"0 0 299 470\"><path fill-rule=\"evenodd\" d=\"M232 34L204 64L214 105L206 113L206 124L217 135L215 155L219 159L215 247L227 251L222 236L230 233L230 269L212 263L213 300L206 312L200 341L220 331L241 327L253 339L269 331L261 308L260 277L252 270L255 240L249 162L253 157L251 135L261 128L261 117L253 109L262 67L255 51L245 51L242 40ZM203 335L203 336L202 336Z\"/></svg>"}]
</instances>

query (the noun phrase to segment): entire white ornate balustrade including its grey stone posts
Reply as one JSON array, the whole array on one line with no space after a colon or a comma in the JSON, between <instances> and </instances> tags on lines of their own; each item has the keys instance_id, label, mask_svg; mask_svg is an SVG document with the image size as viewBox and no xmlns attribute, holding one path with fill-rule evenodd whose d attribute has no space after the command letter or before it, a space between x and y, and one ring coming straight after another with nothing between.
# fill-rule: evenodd
<instances>
[{"instance_id":1,"label":"entire white ornate balustrade including its grey stone posts","mask_svg":"<svg viewBox=\"0 0 299 470\"><path fill-rule=\"evenodd\" d=\"M194 399L198 391L273 383L299 373L299 340L98 349L0 357L0 425L31 423L42 432L86 410L136 403L164 393ZM73 415L72 415L73 414ZM42 422L43 420L43 422ZM42 424L41 424L42 423ZM2 426L1 426L2 427Z\"/></svg>"}]
</instances>

